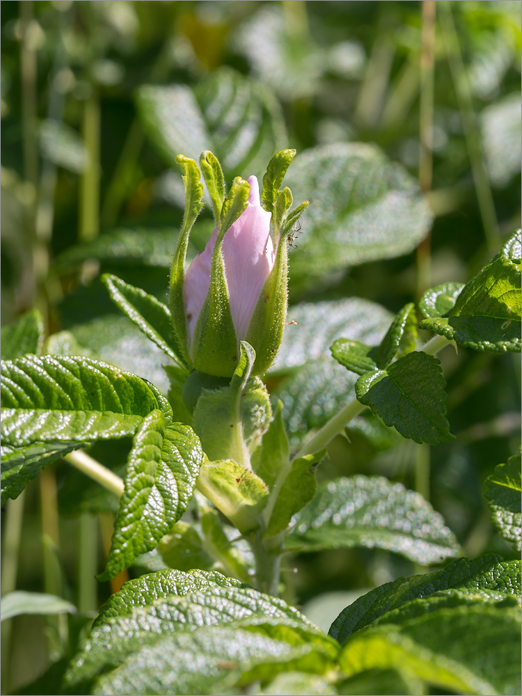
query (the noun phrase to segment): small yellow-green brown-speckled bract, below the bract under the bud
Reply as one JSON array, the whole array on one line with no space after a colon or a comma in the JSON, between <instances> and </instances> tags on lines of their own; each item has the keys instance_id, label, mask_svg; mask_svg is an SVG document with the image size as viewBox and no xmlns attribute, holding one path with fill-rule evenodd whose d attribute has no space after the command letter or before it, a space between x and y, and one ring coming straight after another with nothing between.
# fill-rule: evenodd
<instances>
[{"instance_id":1,"label":"small yellow-green brown-speckled bract, below the bract under the bud","mask_svg":"<svg viewBox=\"0 0 522 696\"><path fill-rule=\"evenodd\" d=\"M251 470L233 459L209 461L201 467L196 486L242 534L258 527L268 489Z\"/></svg>"}]
</instances>

